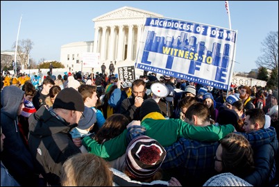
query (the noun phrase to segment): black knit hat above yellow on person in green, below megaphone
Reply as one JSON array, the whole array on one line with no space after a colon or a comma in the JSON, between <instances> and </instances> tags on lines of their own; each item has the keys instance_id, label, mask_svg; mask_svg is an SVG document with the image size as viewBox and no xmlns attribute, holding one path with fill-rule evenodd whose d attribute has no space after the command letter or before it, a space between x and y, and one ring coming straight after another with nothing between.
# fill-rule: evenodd
<instances>
[{"instance_id":1,"label":"black knit hat above yellow on person in green, below megaphone","mask_svg":"<svg viewBox=\"0 0 279 187\"><path fill-rule=\"evenodd\" d=\"M142 106L140 107L140 119L144 118L144 116L148 115L149 113L158 112L162 113L160 110L159 105L156 101L152 98L144 100Z\"/></svg>"}]
</instances>

